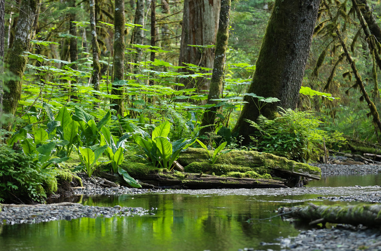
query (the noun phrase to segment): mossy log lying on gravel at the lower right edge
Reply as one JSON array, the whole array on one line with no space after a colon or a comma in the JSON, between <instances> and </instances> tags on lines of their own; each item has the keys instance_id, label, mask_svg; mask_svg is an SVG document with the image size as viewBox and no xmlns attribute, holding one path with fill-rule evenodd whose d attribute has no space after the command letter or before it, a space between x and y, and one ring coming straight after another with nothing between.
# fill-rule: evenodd
<instances>
[{"instance_id":1,"label":"mossy log lying on gravel at the lower right edge","mask_svg":"<svg viewBox=\"0 0 381 251\"><path fill-rule=\"evenodd\" d=\"M339 223L357 226L362 224L368 227L379 227L381 224L381 204L359 204L349 206L308 206L283 207L278 209L282 217L293 217L317 223Z\"/></svg>"}]
</instances>

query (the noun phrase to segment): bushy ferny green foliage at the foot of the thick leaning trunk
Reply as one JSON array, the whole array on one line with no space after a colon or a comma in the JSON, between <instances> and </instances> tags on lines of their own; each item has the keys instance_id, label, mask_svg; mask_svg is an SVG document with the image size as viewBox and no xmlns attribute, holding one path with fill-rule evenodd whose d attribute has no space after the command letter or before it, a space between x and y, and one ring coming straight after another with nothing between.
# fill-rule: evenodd
<instances>
[{"instance_id":1,"label":"bushy ferny green foliage at the foot of the thick leaning trunk","mask_svg":"<svg viewBox=\"0 0 381 251\"><path fill-rule=\"evenodd\" d=\"M318 129L322 123L311 111L280 111L280 117L274 120L259 116L258 123L248 121L258 129L255 135L259 150L283 156L291 160L306 163L312 157L322 155L319 152L323 141L341 145L345 139L341 134L329 135Z\"/></svg>"}]
</instances>

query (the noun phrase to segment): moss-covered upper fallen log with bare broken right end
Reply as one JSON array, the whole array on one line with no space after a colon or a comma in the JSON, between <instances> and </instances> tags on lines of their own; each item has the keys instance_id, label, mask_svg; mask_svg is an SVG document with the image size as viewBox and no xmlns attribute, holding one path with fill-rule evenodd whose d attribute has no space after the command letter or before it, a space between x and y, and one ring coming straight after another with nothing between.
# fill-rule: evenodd
<instances>
[{"instance_id":1,"label":"moss-covered upper fallen log with bare broken right end","mask_svg":"<svg viewBox=\"0 0 381 251\"><path fill-rule=\"evenodd\" d=\"M212 153L212 152L211 152ZM213 154L213 153L212 153ZM254 171L259 175L285 173L319 180L319 167L298 163L284 157L257 151L231 151L221 154L215 164L209 161L209 154L203 148L188 148L181 153L178 163L184 166L186 172L204 172L224 175L228 172Z\"/></svg>"}]
</instances>

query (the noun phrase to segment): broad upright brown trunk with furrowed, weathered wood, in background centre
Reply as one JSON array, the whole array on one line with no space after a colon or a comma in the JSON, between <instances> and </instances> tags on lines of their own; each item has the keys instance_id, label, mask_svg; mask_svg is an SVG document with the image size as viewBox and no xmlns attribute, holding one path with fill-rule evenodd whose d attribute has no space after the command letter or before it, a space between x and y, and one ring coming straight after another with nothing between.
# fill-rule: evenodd
<instances>
[{"instance_id":1,"label":"broad upright brown trunk with furrowed, weathered wood, in background centre","mask_svg":"<svg viewBox=\"0 0 381 251\"><path fill-rule=\"evenodd\" d=\"M220 6L220 0L185 0L179 66L186 66L183 63L191 63L200 67L213 68L214 48L189 45L216 44ZM194 74L193 71L186 69L179 69L179 72ZM186 86L185 88L197 87L198 90L209 90L209 81L203 78L181 81Z\"/></svg>"}]
</instances>

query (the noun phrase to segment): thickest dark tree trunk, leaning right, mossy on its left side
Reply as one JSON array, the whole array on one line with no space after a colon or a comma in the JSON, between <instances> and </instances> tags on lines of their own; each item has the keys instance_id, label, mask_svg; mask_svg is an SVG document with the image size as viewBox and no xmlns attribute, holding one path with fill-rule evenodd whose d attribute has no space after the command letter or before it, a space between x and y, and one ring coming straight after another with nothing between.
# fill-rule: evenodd
<instances>
[{"instance_id":1,"label":"thickest dark tree trunk, leaning right, mossy on its left side","mask_svg":"<svg viewBox=\"0 0 381 251\"><path fill-rule=\"evenodd\" d=\"M268 119L277 116L278 106L296 108L319 5L320 0L275 0L248 90L280 100L261 109L260 114ZM258 99L246 96L245 101L249 103L243 106L233 131L247 144L255 128L245 119L256 121L259 109Z\"/></svg>"}]
</instances>

